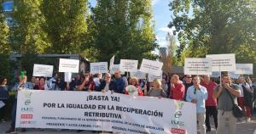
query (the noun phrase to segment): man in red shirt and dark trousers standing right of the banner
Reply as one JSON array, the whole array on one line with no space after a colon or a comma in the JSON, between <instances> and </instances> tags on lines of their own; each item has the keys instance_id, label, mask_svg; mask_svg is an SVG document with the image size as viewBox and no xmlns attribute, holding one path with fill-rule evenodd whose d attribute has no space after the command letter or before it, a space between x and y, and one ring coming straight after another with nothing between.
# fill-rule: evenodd
<instances>
[{"instance_id":1,"label":"man in red shirt and dark trousers standing right of the banner","mask_svg":"<svg viewBox=\"0 0 256 134\"><path fill-rule=\"evenodd\" d=\"M211 125L209 120L211 115L213 116L215 128L217 129L218 127L217 100L215 98L212 98L212 92L214 92L215 87L217 87L217 83L211 81L209 75L204 75L201 86L207 87L208 98L206 101L206 126L207 131L211 131Z\"/></svg>"}]
</instances>

